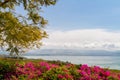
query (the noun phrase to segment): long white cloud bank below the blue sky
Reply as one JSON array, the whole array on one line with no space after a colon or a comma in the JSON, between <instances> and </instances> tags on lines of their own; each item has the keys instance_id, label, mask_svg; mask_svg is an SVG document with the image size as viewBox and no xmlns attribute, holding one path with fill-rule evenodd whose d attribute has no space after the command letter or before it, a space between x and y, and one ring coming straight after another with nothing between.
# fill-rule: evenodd
<instances>
[{"instance_id":1,"label":"long white cloud bank below the blue sky","mask_svg":"<svg viewBox=\"0 0 120 80\"><path fill-rule=\"evenodd\" d=\"M43 44L43 48L120 50L120 32L104 29L51 31Z\"/></svg>"}]
</instances>

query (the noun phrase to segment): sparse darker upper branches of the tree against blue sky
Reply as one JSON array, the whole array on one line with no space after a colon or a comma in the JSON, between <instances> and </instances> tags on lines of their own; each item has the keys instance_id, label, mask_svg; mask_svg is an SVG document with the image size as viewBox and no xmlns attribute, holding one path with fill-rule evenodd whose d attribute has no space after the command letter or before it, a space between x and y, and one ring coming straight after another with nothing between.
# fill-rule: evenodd
<instances>
[{"instance_id":1,"label":"sparse darker upper branches of the tree against blue sky","mask_svg":"<svg viewBox=\"0 0 120 80\"><path fill-rule=\"evenodd\" d=\"M1 11L10 11L15 14L16 6L21 6L26 11L27 16L18 15L18 17L24 18L23 23L32 25L44 26L47 23L39 12L41 12L42 6L55 5L57 0L2 0L0 1ZM16 15L16 16L17 16ZM31 21L28 22L28 20Z\"/></svg>"}]
</instances>

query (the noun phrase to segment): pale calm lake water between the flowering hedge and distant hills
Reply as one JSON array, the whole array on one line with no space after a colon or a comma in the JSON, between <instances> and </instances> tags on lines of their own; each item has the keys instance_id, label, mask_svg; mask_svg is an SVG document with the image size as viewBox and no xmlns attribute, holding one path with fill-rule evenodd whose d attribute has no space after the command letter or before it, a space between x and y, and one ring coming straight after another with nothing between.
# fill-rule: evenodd
<instances>
[{"instance_id":1,"label":"pale calm lake water between the flowering hedge and distant hills","mask_svg":"<svg viewBox=\"0 0 120 80\"><path fill-rule=\"evenodd\" d=\"M119 69L120 56L25 56L33 59L61 60L74 64L88 64L89 66L98 65L101 67Z\"/></svg>"}]
</instances>

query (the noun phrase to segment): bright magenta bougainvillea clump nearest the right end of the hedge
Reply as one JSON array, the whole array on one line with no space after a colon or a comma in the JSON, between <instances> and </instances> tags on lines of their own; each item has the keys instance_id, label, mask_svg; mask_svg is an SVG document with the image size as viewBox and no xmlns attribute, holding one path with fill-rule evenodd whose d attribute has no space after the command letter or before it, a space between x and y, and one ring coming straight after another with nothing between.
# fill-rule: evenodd
<instances>
[{"instance_id":1,"label":"bright magenta bougainvillea clump nearest the right end of the hedge","mask_svg":"<svg viewBox=\"0 0 120 80\"><path fill-rule=\"evenodd\" d=\"M88 67L87 65L82 65L78 72L81 75L80 80L108 80L110 76L110 71L98 66Z\"/></svg>"}]
</instances>

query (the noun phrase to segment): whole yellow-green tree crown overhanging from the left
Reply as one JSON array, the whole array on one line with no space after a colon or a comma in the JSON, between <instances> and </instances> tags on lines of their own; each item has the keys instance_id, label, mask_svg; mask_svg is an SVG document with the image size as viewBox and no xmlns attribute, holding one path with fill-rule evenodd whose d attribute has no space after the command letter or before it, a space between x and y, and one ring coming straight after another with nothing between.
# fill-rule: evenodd
<instances>
[{"instance_id":1,"label":"whole yellow-green tree crown overhanging from the left","mask_svg":"<svg viewBox=\"0 0 120 80\"><path fill-rule=\"evenodd\" d=\"M55 3L56 0L0 0L1 48L12 56L39 48L41 40L47 37L47 20L40 15L41 8ZM16 13L16 7L23 7L26 15Z\"/></svg>"}]
</instances>

